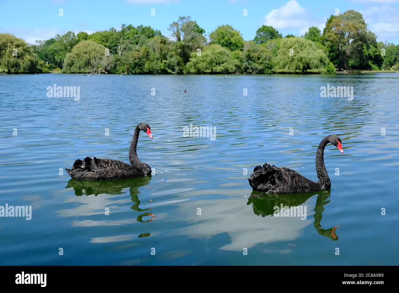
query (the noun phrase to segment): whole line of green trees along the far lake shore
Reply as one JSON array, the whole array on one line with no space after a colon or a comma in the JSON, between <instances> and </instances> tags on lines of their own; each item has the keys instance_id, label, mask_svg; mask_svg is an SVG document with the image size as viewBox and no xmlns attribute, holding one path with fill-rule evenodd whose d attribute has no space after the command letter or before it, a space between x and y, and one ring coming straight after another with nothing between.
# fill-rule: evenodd
<instances>
[{"instance_id":1,"label":"whole line of green trees along the far lake shore","mask_svg":"<svg viewBox=\"0 0 399 293\"><path fill-rule=\"evenodd\" d=\"M170 38L150 26L126 26L88 34L68 31L28 44L0 33L0 73L212 74L335 73L399 69L399 45L377 42L363 16L331 15L323 31L285 37L262 26L245 41L237 29L209 34L190 16L170 24Z\"/></svg>"}]
</instances>

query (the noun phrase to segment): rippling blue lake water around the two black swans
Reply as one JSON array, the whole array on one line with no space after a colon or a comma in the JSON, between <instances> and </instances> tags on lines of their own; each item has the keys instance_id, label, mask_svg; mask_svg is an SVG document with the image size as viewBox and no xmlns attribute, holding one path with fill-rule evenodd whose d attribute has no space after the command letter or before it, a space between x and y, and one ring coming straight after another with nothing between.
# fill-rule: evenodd
<instances>
[{"instance_id":1,"label":"rippling blue lake water around the two black swans","mask_svg":"<svg viewBox=\"0 0 399 293\"><path fill-rule=\"evenodd\" d=\"M53 84L79 100L47 97ZM328 84L353 100L321 98ZM397 73L0 75L0 206L32 206L31 220L0 218L0 264L398 265L398 85ZM139 122L154 175L60 175L88 155L128 162ZM215 139L185 137L190 124ZM265 162L317 181L328 134L344 147L324 152L330 191L250 198ZM273 216L281 204L306 219Z\"/></svg>"}]
</instances>

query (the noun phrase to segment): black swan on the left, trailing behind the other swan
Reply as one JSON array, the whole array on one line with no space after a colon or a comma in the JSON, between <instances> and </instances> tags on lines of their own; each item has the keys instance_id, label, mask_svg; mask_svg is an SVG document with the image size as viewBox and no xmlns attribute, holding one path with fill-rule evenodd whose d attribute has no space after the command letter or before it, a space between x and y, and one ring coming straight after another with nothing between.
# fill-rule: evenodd
<instances>
[{"instance_id":1,"label":"black swan on the left, trailing behind the other swan","mask_svg":"<svg viewBox=\"0 0 399 293\"><path fill-rule=\"evenodd\" d=\"M146 176L151 173L151 168L137 157L136 147L140 130L144 131L152 139L150 126L140 123L134 130L132 142L129 148L130 164L114 159L99 159L86 157L83 161L77 159L72 169L65 169L74 179L112 180Z\"/></svg>"}]
</instances>

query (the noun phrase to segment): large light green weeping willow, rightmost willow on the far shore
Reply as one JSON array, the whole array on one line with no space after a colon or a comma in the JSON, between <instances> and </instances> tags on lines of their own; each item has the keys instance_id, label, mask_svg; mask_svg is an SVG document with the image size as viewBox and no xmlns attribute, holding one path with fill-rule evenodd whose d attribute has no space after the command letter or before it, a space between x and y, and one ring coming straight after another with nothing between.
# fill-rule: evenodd
<instances>
[{"instance_id":1,"label":"large light green weeping willow, rightmost willow on the far shore","mask_svg":"<svg viewBox=\"0 0 399 293\"><path fill-rule=\"evenodd\" d=\"M334 73L322 46L303 37L282 39L273 61L276 73Z\"/></svg>"}]
</instances>

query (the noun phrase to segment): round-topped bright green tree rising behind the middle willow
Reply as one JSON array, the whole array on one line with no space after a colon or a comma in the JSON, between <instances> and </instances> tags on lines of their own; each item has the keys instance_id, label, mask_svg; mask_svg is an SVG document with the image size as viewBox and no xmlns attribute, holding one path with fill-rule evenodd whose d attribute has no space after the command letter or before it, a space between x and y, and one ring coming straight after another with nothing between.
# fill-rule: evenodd
<instances>
[{"instance_id":1,"label":"round-topped bright green tree rising behind the middle willow","mask_svg":"<svg viewBox=\"0 0 399 293\"><path fill-rule=\"evenodd\" d=\"M218 26L211 32L209 39L215 44L221 45L230 51L241 50L244 47L243 36L240 31L233 29L228 24Z\"/></svg>"}]
</instances>

